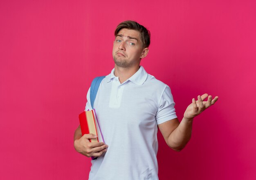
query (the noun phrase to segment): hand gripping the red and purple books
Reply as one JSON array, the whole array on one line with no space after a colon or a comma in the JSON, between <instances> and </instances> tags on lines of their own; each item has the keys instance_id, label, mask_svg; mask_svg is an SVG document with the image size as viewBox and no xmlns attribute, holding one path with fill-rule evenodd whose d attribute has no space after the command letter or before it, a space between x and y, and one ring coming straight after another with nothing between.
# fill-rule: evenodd
<instances>
[{"instance_id":1,"label":"hand gripping the red and purple books","mask_svg":"<svg viewBox=\"0 0 256 180\"><path fill-rule=\"evenodd\" d=\"M108 145L104 142L90 142L89 139L96 138L94 134L84 134L80 139L74 141L77 152L87 157L99 157L107 151Z\"/></svg>"}]
</instances>

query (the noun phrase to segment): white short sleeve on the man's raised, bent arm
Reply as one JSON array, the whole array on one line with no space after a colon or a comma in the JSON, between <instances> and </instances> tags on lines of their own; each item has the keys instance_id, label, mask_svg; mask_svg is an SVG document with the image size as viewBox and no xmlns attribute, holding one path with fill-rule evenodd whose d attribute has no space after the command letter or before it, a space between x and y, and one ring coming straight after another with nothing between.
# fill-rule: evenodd
<instances>
[{"instance_id":1,"label":"white short sleeve on the man's raised, bent arm","mask_svg":"<svg viewBox=\"0 0 256 180\"><path fill-rule=\"evenodd\" d=\"M174 105L175 102L173 101L171 89L166 85L155 116L157 124L162 124L168 120L177 118Z\"/></svg>"}]
</instances>

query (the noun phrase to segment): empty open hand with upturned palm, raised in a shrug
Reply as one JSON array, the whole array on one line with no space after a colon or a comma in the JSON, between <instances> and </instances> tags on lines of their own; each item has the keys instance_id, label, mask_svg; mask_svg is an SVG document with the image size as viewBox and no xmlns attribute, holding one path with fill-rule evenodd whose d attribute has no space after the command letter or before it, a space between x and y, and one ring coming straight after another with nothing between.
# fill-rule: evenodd
<instances>
[{"instance_id":1,"label":"empty open hand with upturned palm, raised in a shrug","mask_svg":"<svg viewBox=\"0 0 256 180\"><path fill-rule=\"evenodd\" d=\"M208 97L207 101L203 101ZM195 116L198 116L202 111L213 105L218 100L218 96L216 96L213 100L211 96L208 94L203 94L202 96L198 96L198 100L195 101L195 98L192 99L192 103L186 108L184 113L184 118L187 120L193 120Z\"/></svg>"}]
</instances>

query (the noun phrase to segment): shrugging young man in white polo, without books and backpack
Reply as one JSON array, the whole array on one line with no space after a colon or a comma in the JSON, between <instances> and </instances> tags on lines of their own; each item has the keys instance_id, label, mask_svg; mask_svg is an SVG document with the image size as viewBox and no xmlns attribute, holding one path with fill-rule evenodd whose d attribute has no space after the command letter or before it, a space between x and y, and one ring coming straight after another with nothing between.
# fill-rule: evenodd
<instances>
[{"instance_id":1,"label":"shrugging young man in white polo, without books and backpack","mask_svg":"<svg viewBox=\"0 0 256 180\"><path fill-rule=\"evenodd\" d=\"M106 144L90 142L93 134L81 136L80 126L74 135L76 151L98 157L90 180L157 180L157 127L168 146L180 151L191 137L193 118L218 100L207 94L193 98L179 122L171 89L139 65L149 44L149 31L137 22L121 22L115 30L115 68L102 80L94 102ZM91 110L90 89L87 100L85 110Z\"/></svg>"}]
</instances>

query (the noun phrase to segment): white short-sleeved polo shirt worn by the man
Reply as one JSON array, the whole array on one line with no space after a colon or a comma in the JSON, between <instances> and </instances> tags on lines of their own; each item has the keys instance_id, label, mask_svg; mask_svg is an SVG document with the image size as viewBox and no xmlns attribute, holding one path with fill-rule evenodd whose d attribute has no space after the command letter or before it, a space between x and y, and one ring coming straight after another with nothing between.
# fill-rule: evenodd
<instances>
[{"instance_id":1,"label":"white short-sleeved polo shirt worn by the man","mask_svg":"<svg viewBox=\"0 0 256 180\"><path fill-rule=\"evenodd\" d=\"M90 105L90 89L85 110ZM158 180L157 124L177 118L171 89L141 66L122 84L114 69L94 102L108 150L92 160L89 180Z\"/></svg>"}]
</instances>

